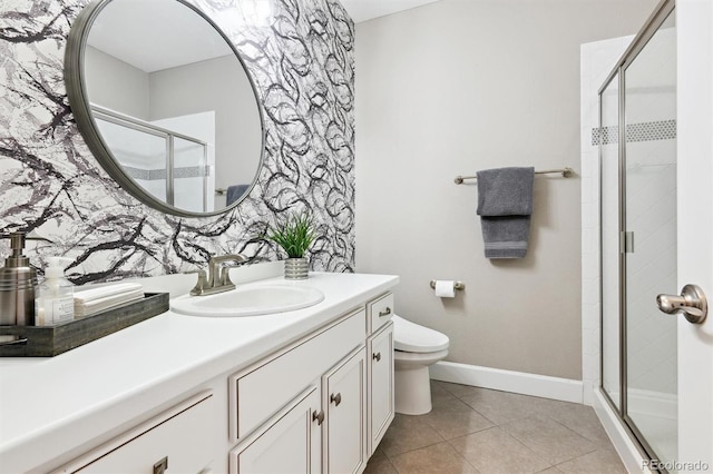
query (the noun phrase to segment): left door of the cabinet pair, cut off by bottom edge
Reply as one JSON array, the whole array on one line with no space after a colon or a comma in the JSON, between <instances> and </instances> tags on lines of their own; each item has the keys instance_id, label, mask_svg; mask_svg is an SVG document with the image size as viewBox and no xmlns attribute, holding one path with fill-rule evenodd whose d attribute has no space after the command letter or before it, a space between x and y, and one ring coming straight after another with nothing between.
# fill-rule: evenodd
<instances>
[{"instance_id":1,"label":"left door of the cabinet pair, cut off by bottom edge","mask_svg":"<svg viewBox=\"0 0 713 474\"><path fill-rule=\"evenodd\" d=\"M233 474L322 471L321 396L312 386L231 452Z\"/></svg>"}]
</instances>

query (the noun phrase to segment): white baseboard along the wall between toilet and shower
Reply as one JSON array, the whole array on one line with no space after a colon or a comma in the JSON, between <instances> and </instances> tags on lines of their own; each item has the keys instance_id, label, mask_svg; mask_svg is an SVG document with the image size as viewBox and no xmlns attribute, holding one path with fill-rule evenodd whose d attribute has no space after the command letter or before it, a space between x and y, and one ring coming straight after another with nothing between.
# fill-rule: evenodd
<instances>
[{"instance_id":1,"label":"white baseboard along the wall between toilet and shower","mask_svg":"<svg viewBox=\"0 0 713 474\"><path fill-rule=\"evenodd\" d=\"M430 367L431 378L564 402L583 403L582 381L502 371L477 365L439 362Z\"/></svg>"}]
</instances>

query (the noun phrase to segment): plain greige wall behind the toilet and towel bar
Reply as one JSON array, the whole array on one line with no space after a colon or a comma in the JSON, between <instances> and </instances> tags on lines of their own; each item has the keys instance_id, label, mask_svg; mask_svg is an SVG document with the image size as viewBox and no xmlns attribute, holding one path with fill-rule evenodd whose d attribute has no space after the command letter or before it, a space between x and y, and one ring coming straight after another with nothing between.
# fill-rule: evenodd
<instances>
[{"instance_id":1,"label":"plain greige wall behind the toilet and towel bar","mask_svg":"<svg viewBox=\"0 0 713 474\"><path fill-rule=\"evenodd\" d=\"M484 257L477 185L579 168L579 45L635 32L653 0L443 0L356 26L356 269L451 362L582 378L580 180L537 177L528 256ZM440 300L432 278L467 289Z\"/></svg>"}]
</instances>

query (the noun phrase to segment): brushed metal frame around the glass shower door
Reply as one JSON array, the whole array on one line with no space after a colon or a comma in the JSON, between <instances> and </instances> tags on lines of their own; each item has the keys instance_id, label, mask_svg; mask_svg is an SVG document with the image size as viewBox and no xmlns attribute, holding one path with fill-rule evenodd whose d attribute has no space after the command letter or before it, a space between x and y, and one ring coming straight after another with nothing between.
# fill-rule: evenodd
<instances>
[{"instance_id":1,"label":"brushed metal frame around the glass shower door","mask_svg":"<svg viewBox=\"0 0 713 474\"><path fill-rule=\"evenodd\" d=\"M623 205L626 201L626 69L636 60L638 53L646 48L648 41L658 31L661 26L675 10L676 0L662 0L655 8L654 12L648 17L642 30L636 34L629 47L624 51L622 58L617 61L616 66L609 72L604 83L598 90L599 97L599 189L603 189L603 166L602 166L602 140L604 137L603 129L603 92L613 83L616 78L618 81L618 226L619 226L619 251L618 251L618 277L619 277L619 318L618 318L618 336L619 336L619 406L609 397L606 389L602 393L604 398L609 404L612 411L619 418L622 426L627 431L629 437L633 438L635 444L639 447L639 452L643 456L649 460L657 458L655 451L646 442L643 433L636 427L634 421L628 416L628 403L627 403L627 300L626 300L626 253L625 253L625 238L624 229L626 229L626 207ZM602 196L599 196L599 223L603 219L603 205ZM599 275L604 275L603 254L602 254L602 239L603 229L599 229ZM604 300L604 282L599 280L599 302ZM599 327L604 327L604 305L600 305L599 313ZM604 333L602 332L599 339L599 381L604 384Z\"/></svg>"}]
</instances>

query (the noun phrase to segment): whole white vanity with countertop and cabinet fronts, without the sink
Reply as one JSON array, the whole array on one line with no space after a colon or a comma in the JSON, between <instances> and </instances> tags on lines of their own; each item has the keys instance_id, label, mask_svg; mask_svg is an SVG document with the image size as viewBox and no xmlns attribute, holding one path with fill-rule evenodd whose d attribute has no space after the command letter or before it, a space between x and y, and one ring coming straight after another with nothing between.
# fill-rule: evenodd
<instances>
[{"instance_id":1,"label":"whole white vanity with countertop and cabinet fronts, without the sink","mask_svg":"<svg viewBox=\"0 0 713 474\"><path fill-rule=\"evenodd\" d=\"M8 362L0 471L362 473L393 419L397 283L314 274L304 284L328 295L314 309L168 312L52 359ZM64 403L40 403L48 385Z\"/></svg>"}]
</instances>

